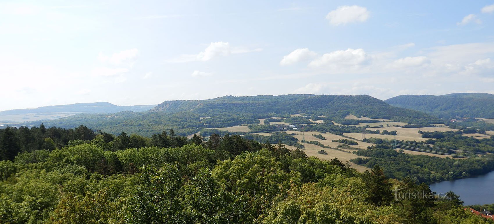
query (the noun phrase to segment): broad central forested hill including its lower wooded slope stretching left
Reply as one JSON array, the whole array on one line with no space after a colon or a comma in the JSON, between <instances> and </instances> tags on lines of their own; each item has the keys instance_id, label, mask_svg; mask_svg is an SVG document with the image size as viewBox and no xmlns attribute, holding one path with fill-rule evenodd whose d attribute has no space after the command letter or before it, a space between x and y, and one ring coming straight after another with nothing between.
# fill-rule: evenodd
<instances>
[{"instance_id":1,"label":"broad central forested hill including its lower wooded slope stretching left","mask_svg":"<svg viewBox=\"0 0 494 224\"><path fill-rule=\"evenodd\" d=\"M290 114L303 114L304 117L290 118ZM46 127L75 128L84 124L92 130L112 134L124 131L145 136L173 129L177 134L189 135L204 128L259 124L262 118L281 117L288 119L285 121L290 124L310 124L312 122L309 119L344 120L348 114L409 124L441 123L439 119L423 112L393 107L368 95L293 94L165 101L146 112L78 114L20 125L39 126L44 123Z\"/></svg>"}]
</instances>

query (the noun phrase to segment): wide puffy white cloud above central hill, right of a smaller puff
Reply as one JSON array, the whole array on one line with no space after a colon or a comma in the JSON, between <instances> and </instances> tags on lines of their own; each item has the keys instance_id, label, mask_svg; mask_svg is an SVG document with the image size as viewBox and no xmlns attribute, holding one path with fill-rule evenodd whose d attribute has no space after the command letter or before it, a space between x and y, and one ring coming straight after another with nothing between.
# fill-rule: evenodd
<instances>
[{"instance_id":1,"label":"wide puffy white cloud above central hill, right of a smaller puff","mask_svg":"<svg viewBox=\"0 0 494 224\"><path fill-rule=\"evenodd\" d=\"M310 67L328 67L332 69L356 69L371 59L364 49L336 50L323 54L309 63Z\"/></svg>"}]
</instances>

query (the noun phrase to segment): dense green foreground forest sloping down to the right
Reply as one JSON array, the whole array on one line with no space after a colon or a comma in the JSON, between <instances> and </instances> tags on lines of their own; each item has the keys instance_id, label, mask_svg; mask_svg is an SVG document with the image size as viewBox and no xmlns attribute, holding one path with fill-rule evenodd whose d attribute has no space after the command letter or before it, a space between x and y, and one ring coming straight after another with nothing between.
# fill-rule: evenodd
<instances>
[{"instance_id":1,"label":"dense green foreground forest sloping down to the right","mask_svg":"<svg viewBox=\"0 0 494 224\"><path fill-rule=\"evenodd\" d=\"M18 139L20 132L31 137ZM395 189L431 192L408 177L388 179L378 166L359 173L239 135L187 139L170 130L148 138L41 126L2 130L0 142L2 224L493 223L463 210L453 192L395 197Z\"/></svg>"}]
</instances>

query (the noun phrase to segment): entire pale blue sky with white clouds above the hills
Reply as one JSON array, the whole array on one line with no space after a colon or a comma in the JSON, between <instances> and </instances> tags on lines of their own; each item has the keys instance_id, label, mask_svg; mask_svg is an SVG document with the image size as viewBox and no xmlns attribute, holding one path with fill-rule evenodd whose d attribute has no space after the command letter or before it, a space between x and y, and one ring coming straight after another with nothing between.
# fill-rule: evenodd
<instances>
[{"instance_id":1,"label":"entire pale blue sky with white clouds above the hills","mask_svg":"<svg viewBox=\"0 0 494 224\"><path fill-rule=\"evenodd\" d=\"M0 0L0 111L494 93L494 1Z\"/></svg>"}]
</instances>

